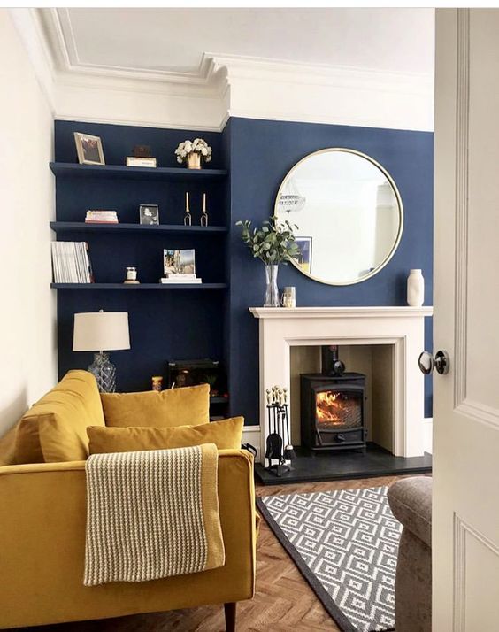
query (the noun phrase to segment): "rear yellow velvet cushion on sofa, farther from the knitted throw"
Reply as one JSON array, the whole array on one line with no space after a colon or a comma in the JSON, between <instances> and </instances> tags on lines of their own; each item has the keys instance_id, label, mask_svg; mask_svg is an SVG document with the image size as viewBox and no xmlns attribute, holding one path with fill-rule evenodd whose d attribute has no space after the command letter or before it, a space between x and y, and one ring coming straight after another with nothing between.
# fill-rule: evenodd
<instances>
[{"instance_id":1,"label":"rear yellow velvet cushion on sofa, farther from the knitted throw","mask_svg":"<svg viewBox=\"0 0 499 632\"><path fill-rule=\"evenodd\" d=\"M102 393L106 426L173 428L210 421L208 384L143 393Z\"/></svg>"}]
</instances>

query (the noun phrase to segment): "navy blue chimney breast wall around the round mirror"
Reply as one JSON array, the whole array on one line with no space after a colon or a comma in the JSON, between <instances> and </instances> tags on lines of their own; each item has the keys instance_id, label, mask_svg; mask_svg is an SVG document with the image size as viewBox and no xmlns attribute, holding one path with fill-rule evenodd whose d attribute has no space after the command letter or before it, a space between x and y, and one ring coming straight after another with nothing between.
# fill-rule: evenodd
<instances>
[{"instance_id":1,"label":"navy blue chimney breast wall around the round mirror","mask_svg":"<svg viewBox=\"0 0 499 632\"><path fill-rule=\"evenodd\" d=\"M425 304L433 303L433 134L425 132L236 119L229 122L232 229L230 235L231 392L249 424L258 423L258 326L249 306L263 304L264 267L242 244L237 220L268 219L280 182L303 156L347 147L371 156L394 178L403 199L401 243L387 266L371 279L332 287L312 281L294 266L280 266L279 285L296 286L296 304L405 305L411 268L426 278ZM334 247L334 235L331 235ZM431 326L426 347L431 349ZM431 416L431 382L426 389Z\"/></svg>"}]
</instances>

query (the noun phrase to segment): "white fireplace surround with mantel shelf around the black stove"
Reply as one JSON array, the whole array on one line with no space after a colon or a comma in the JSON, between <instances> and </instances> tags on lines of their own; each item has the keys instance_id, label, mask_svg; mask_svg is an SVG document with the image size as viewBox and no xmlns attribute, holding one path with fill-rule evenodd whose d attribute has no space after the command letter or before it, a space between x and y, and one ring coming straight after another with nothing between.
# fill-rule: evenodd
<instances>
[{"instance_id":1,"label":"white fireplace surround with mantel shelf around the black stove","mask_svg":"<svg viewBox=\"0 0 499 632\"><path fill-rule=\"evenodd\" d=\"M433 307L250 307L259 320L260 449L265 453L265 389L289 389L290 348L295 345L390 344L393 347L393 445L395 456L424 453L425 318Z\"/></svg>"}]
</instances>

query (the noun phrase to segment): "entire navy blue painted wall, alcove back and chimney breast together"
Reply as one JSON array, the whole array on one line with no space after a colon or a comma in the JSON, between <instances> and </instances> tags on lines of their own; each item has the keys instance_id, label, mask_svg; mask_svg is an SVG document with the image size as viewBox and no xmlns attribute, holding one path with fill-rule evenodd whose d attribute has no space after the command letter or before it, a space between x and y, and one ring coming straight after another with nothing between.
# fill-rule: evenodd
<instances>
[{"instance_id":1,"label":"entire navy blue painted wall, alcove back and chimney breast together","mask_svg":"<svg viewBox=\"0 0 499 632\"><path fill-rule=\"evenodd\" d=\"M433 135L424 132L342 127L255 119L230 119L221 134L56 121L56 160L77 162L73 131L101 136L106 164L124 165L134 144L150 144L158 166L178 166L173 150L199 135L213 147L213 168L230 169L226 181L209 184L211 224L228 224L224 235L65 236L89 242L96 281L122 281L124 267L136 265L142 281L161 275L165 247L196 248L204 281L227 281L228 291L65 290L58 292L59 374L87 366L90 354L73 353L73 314L123 310L130 314L132 350L113 353L119 389L149 389L169 358L221 358L229 371L230 412L258 423L258 325L249 306L263 304L264 267L242 244L237 220L256 224L273 213L280 182L300 158L326 147L360 150L385 166L395 179L404 206L402 241L380 274L352 286L332 287L308 279L293 266L280 266L280 287L295 285L298 305L404 305L411 267L426 278L426 304L433 302ZM207 184L192 182L193 208L200 207ZM186 187L179 182L58 179L58 220L82 221L88 208L114 208L123 222L138 221L138 205L160 205L164 224L181 224ZM331 235L334 243L334 235ZM431 350L431 323L426 328ZM431 416L431 382L426 388Z\"/></svg>"}]
</instances>

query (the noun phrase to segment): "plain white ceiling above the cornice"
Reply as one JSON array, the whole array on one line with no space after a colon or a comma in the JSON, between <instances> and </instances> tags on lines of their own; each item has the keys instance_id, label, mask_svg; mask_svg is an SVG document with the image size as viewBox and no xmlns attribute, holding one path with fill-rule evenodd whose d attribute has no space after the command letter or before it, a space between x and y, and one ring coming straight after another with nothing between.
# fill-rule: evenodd
<instances>
[{"instance_id":1,"label":"plain white ceiling above the cornice","mask_svg":"<svg viewBox=\"0 0 499 632\"><path fill-rule=\"evenodd\" d=\"M59 37L73 68L196 75L203 53L211 52L385 72L434 72L433 9L56 11Z\"/></svg>"}]
</instances>

